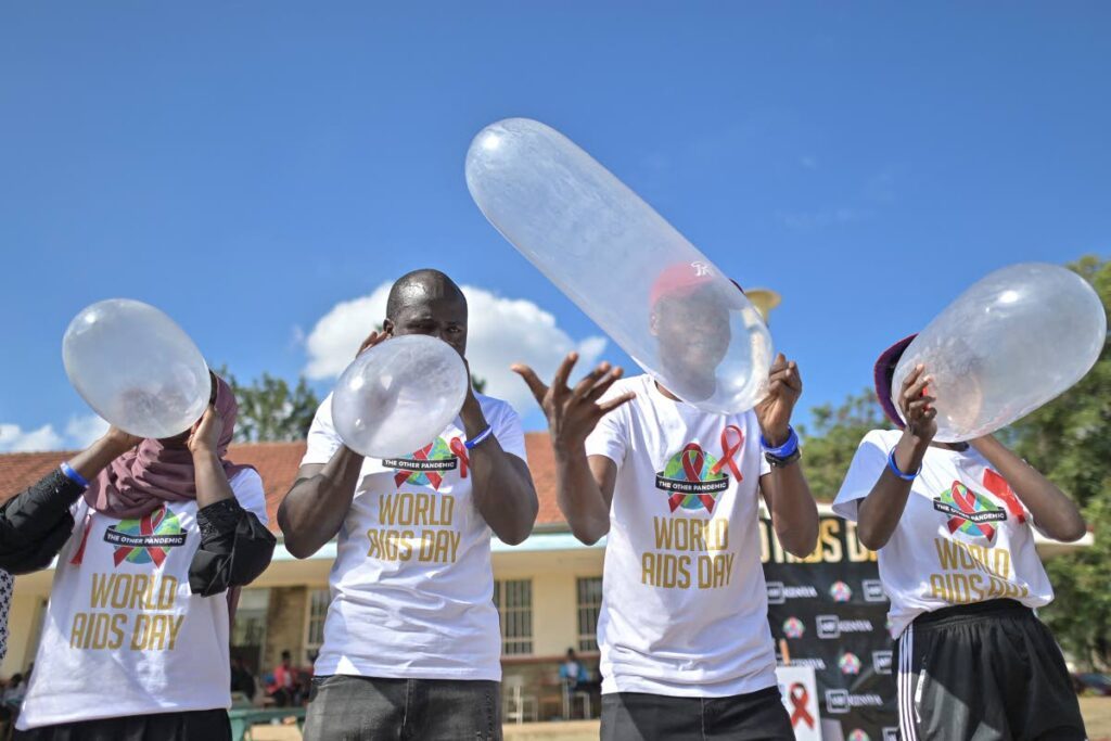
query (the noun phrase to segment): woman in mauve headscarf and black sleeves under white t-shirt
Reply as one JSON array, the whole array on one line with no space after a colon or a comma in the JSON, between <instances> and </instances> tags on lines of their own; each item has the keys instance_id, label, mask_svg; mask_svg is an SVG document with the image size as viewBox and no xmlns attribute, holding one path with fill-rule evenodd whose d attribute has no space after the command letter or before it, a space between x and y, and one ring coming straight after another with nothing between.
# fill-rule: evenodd
<instances>
[{"instance_id":1,"label":"woman in mauve headscarf and black sleeves under white t-shirt","mask_svg":"<svg viewBox=\"0 0 1111 741\"><path fill-rule=\"evenodd\" d=\"M0 507L0 569L58 557L17 739L230 738L228 594L276 540L258 472L226 459L234 395L212 387L191 430L112 428Z\"/></svg>"}]
</instances>

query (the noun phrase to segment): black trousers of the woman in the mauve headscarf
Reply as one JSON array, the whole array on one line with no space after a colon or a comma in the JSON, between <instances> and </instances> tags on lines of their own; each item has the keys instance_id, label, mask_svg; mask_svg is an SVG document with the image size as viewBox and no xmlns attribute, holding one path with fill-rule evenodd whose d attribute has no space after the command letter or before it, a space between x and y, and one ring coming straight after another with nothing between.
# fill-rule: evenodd
<instances>
[{"instance_id":1,"label":"black trousers of the woman in the mauve headscarf","mask_svg":"<svg viewBox=\"0 0 1111 741\"><path fill-rule=\"evenodd\" d=\"M14 741L230 741L228 711L103 718L16 731Z\"/></svg>"}]
</instances>

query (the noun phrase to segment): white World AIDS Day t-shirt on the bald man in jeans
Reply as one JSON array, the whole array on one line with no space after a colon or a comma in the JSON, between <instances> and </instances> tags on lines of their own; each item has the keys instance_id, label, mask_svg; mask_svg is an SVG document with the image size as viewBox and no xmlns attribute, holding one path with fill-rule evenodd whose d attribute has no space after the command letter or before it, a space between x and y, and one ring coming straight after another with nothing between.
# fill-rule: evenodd
<instances>
[{"instance_id":1,"label":"white World AIDS Day t-shirt on the bald man in jeans","mask_svg":"<svg viewBox=\"0 0 1111 741\"><path fill-rule=\"evenodd\" d=\"M524 460L517 412L476 394L506 452ZM342 441L332 398L320 404L302 465ZM367 458L329 574L331 604L316 673L399 679L501 679L490 527L471 495L456 419L424 450Z\"/></svg>"}]
</instances>

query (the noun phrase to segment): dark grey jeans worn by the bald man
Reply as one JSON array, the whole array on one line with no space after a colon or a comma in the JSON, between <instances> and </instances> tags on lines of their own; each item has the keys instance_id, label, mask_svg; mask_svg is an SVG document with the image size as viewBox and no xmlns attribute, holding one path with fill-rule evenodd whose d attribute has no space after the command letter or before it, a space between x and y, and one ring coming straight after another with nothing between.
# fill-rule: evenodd
<instances>
[{"instance_id":1,"label":"dark grey jeans worn by the bald man","mask_svg":"<svg viewBox=\"0 0 1111 741\"><path fill-rule=\"evenodd\" d=\"M501 741L499 682L314 677L304 741Z\"/></svg>"}]
</instances>

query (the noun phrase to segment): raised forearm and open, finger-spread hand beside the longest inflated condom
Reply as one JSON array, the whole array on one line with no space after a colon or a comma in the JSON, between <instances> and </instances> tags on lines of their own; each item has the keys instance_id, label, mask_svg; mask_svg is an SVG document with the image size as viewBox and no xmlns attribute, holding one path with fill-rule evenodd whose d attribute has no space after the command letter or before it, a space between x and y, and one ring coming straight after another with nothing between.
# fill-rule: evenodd
<instances>
[{"instance_id":1,"label":"raised forearm and open, finger-spread hand beside the longest inflated condom","mask_svg":"<svg viewBox=\"0 0 1111 741\"><path fill-rule=\"evenodd\" d=\"M602 363L583 378L574 389L568 387L571 369L579 354L563 359L551 387L544 384L528 366L513 366L524 379L548 418L552 449L556 453L556 497L571 532L581 542L592 545L610 531L610 502L617 483L618 467L604 455L587 455L587 438L599 420L634 398L624 393L599 403L599 399L621 378L620 368Z\"/></svg>"}]
</instances>

